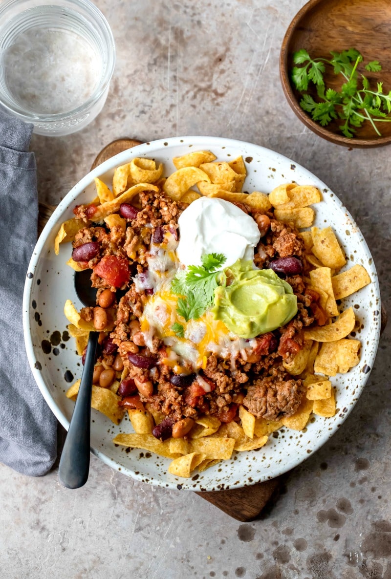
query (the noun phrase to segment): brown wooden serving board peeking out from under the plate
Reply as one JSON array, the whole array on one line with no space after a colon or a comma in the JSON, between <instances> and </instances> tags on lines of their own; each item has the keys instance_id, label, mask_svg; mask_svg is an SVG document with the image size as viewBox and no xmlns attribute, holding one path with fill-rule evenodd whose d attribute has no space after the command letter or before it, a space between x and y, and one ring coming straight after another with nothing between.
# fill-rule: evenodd
<instances>
[{"instance_id":1,"label":"brown wooden serving board peeking out from under the plate","mask_svg":"<svg viewBox=\"0 0 391 579\"><path fill-rule=\"evenodd\" d=\"M141 145L141 141L134 139L118 139L112 141L102 149L96 156L91 169L94 169L107 159L133 146ZM40 233L45 226L47 219L56 207L40 203L38 232ZM382 331L387 323L387 314L382 307ZM227 515L237 521L249 522L257 519L266 505L268 505L273 496L278 492L286 474L269 481L257 483L252 486L245 486L240 489L218 490L213 492L196 492L200 497L220 508Z\"/></svg>"}]
</instances>

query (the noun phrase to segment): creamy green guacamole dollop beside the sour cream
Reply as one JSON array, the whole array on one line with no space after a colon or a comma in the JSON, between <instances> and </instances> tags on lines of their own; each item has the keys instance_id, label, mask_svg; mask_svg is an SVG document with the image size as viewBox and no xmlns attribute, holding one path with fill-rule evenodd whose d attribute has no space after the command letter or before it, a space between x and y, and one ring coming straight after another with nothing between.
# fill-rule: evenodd
<instances>
[{"instance_id":1,"label":"creamy green guacamole dollop beside the sour cream","mask_svg":"<svg viewBox=\"0 0 391 579\"><path fill-rule=\"evenodd\" d=\"M240 338L272 332L297 313L297 297L291 286L271 269L253 269L250 261L238 260L226 270L231 284L214 290L215 320Z\"/></svg>"}]
</instances>

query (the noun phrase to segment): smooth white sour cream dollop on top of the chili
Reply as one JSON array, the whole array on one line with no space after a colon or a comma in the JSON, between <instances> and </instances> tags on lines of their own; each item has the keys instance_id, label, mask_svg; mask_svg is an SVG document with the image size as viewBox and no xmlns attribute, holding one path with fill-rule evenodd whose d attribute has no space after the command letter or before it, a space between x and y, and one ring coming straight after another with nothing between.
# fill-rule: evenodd
<instances>
[{"instance_id":1,"label":"smooth white sour cream dollop on top of the chili","mask_svg":"<svg viewBox=\"0 0 391 579\"><path fill-rule=\"evenodd\" d=\"M233 203L216 197L193 201L178 219L178 259L184 265L202 265L202 256L224 254L222 267L237 259L253 261L260 231L254 219Z\"/></svg>"}]
</instances>

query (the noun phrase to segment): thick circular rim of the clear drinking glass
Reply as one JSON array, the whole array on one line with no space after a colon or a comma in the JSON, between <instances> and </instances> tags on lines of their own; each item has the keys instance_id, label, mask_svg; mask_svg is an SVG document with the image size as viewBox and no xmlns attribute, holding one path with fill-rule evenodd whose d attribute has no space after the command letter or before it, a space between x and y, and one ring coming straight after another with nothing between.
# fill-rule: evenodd
<instances>
[{"instance_id":1,"label":"thick circular rim of the clear drinking glass","mask_svg":"<svg viewBox=\"0 0 391 579\"><path fill-rule=\"evenodd\" d=\"M10 8L13 8L17 5L27 5L30 3L31 0L6 0L6 2L0 4L0 19L4 19L7 16L7 12ZM86 111L91 105L95 102L100 100L100 98L105 93L111 77L114 72L115 68L115 57L116 57L116 50L115 50L115 42L114 36L112 34L111 28L108 24L107 19L105 18L104 14L97 8L96 5L91 0L64 0L63 2L54 0L54 2L49 3L42 0L42 2L34 2L35 6L47 6L48 8L52 8L53 6L64 6L64 5L74 5L75 8L82 8L88 12L88 16L92 18L93 24L97 24L99 28L99 41L103 42L104 46L107 48L107 65L101 79L100 83L93 91L92 95L87 98L81 105L78 107L72 108L69 111L61 112L61 113L36 113L36 112L28 112L22 107L18 107L14 104L14 102L10 101L8 98L5 97L3 91L0 90L0 105L7 109L9 112L17 115L20 119L25 120L26 122L30 123L50 123L50 122L59 122L62 120L67 120L75 115L79 115ZM26 8L27 9L27 8ZM0 30L2 25L0 25Z\"/></svg>"}]
</instances>

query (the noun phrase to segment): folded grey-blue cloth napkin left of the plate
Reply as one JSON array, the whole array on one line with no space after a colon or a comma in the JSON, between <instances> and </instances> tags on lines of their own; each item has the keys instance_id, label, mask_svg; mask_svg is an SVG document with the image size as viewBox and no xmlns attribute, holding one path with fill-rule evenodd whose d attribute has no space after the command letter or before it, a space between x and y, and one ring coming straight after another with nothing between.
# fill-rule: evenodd
<instances>
[{"instance_id":1,"label":"folded grey-blue cloth napkin left of the plate","mask_svg":"<svg viewBox=\"0 0 391 579\"><path fill-rule=\"evenodd\" d=\"M0 462L41 476L56 459L56 418L36 386L24 349L22 298L36 241L38 194L32 125L0 109Z\"/></svg>"}]
</instances>

